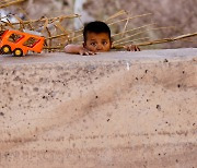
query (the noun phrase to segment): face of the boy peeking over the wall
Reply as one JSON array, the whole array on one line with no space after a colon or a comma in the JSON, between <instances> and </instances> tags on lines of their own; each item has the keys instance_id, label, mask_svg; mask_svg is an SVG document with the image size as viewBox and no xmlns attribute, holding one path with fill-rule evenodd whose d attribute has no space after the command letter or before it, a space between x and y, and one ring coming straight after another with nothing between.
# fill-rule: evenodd
<instances>
[{"instance_id":1,"label":"face of the boy peeking over the wall","mask_svg":"<svg viewBox=\"0 0 197 168\"><path fill-rule=\"evenodd\" d=\"M111 50L111 39L107 33L88 33L84 47L93 52L105 52Z\"/></svg>"}]
</instances>

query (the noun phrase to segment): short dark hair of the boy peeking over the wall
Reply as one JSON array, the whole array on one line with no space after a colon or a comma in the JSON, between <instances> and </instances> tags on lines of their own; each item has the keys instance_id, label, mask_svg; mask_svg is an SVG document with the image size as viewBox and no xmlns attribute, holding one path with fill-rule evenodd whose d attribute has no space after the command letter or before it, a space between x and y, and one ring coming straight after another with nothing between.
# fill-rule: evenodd
<instances>
[{"instance_id":1,"label":"short dark hair of the boy peeking over the wall","mask_svg":"<svg viewBox=\"0 0 197 168\"><path fill-rule=\"evenodd\" d=\"M111 40L111 29L107 26L106 23L101 22L101 21L94 21L94 22L90 22L84 26L83 29L83 40L84 43L86 41L86 34L88 33L107 33L108 34L108 38Z\"/></svg>"}]
</instances>

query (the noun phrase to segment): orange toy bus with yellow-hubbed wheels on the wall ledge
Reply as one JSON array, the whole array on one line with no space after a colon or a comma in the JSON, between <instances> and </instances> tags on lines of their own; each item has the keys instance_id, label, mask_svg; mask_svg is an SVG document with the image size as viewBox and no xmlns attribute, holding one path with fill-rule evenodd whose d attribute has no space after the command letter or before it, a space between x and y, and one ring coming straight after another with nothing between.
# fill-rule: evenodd
<instances>
[{"instance_id":1,"label":"orange toy bus with yellow-hubbed wheels on the wall ledge","mask_svg":"<svg viewBox=\"0 0 197 168\"><path fill-rule=\"evenodd\" d=\"M0 38L0 49L4 55L13 53L16 57L21 57L28 51L40 52L44 43L45 37L43 36L7 29Z\"/></svg>"}]
</instances>

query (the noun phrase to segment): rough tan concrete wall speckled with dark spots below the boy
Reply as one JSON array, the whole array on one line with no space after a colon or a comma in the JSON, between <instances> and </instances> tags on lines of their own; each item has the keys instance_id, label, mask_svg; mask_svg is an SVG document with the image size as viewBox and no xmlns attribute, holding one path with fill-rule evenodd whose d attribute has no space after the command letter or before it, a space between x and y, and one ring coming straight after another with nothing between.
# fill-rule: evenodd
<instances>
[{"instance_id":1,"label":"rough tan concrete wall speckled with dark spots below the boy","mask_svg":"<svg viewBox=\"0 0 197 168\"><path fill-rule=\"evenodd\" d=\"M197 48L0 56L0 168L197 168Z\"/></svg>"}]
</instances>

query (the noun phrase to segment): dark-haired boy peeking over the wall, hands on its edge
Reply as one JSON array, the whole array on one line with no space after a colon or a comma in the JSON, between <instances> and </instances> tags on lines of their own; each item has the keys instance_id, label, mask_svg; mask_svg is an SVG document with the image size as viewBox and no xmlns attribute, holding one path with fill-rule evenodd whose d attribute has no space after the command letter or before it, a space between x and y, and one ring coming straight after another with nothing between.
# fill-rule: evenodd
<instances>
[{"instance_id":1,"label":"dark-haired boy peeking over the wall, hands on its edge","mask_svg":"<svg viewBox=\"0 0 197 168\"><path fill-rule=\"evenodd\" d=\"M91 22L83 29L83 45L67 45L65 52L77 55L95 55L96 52L109 51L112 48L111 29L100 21ZM139 51L135 46L126 46L128 51Z\"/></svg>"}]
</instances>

